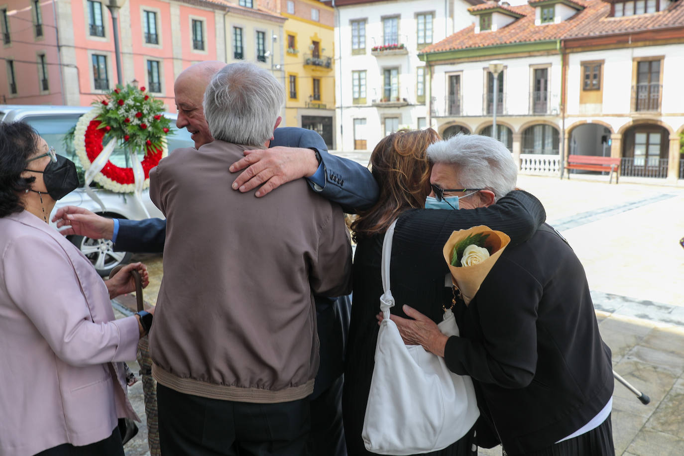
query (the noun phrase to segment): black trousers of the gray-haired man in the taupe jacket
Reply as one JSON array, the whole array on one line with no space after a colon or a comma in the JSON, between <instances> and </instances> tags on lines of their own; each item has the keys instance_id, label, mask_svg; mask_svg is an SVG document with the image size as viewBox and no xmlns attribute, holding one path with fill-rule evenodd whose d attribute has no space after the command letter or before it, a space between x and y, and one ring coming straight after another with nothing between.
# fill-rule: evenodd
<instances>
[{"instance_id":1,"label":"black trousers of the gray-haired man in the taupe jacket","mask_svg":"<svg viewBox=\"0 0 684 456\"><path fill-rule=\"evenodd\" d=\"M274 404L221 401L157 384L164 456L306 456L308 399Z\"/></svg>"}]
</instances>

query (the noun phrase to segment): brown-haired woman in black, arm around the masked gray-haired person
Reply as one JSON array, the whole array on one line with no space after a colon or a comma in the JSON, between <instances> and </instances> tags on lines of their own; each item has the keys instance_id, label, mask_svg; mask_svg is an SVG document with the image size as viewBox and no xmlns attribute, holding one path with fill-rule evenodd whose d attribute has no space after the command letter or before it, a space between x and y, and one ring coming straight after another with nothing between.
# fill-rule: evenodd
<instances>
[{"instance_id":1,"label":"brown-haired woman in black, arm around the masked gray-haired person","mask_svg":"<svg viewBox=\"0 0 684 456\"><path fill-rule=\"evenodd\" d=\"M403 241L400 245L407 246L395 248L391 254L390 275L395 299L392 314L406 318L402 306L407 304L438 323L443 317L442 306L451 305L451 287L445 286L445 276L449 269L445 261L439 264L419 264L419 249L425 249L425 243L412 249L410 239L406 239L407 232L402 230L407 217L414 222L419 218L421 224L430 227L430 234L426 233L434 239L430 249L440 255L453 230L487 225L509 234L512 242L522 242L531 237L545 218L540 202L523 191L511 192L497 204L473 211L452 210L440 192L438 198L430 198L430 206L440 203L437 206L447 210L425 210L426 198L435 196L430 185L432 166L427 159L426 150L439 139L439 135L432 129L399 131L384 137L371 154L371 171L380 185L380 198L371 209L360 213L352 224L357 246L342 399L347 452L350 456L372 454L365 449L361 431L378 339L376 315L380 310L379 297L383 293L380 273L382 242L392 222L398 219L394 236ZM455 209L457 208L458 206ZM426 269L430 273L424 273ZM388 382L391 380L386 379ZM466 435L455 435L455 442L447 448L427 454L477 454L474 429L473 427Z\"/></svg>"}]
</instances>

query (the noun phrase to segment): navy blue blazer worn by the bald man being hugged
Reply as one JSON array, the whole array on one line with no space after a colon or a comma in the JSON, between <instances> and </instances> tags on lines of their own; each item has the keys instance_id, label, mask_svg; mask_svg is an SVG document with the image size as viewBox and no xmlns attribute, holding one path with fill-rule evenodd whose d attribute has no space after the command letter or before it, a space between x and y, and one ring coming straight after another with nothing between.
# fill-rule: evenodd
<instances>
[{"instance_id":1,"label":"navy blue blazer worn by the bald man being hugged","mask_svg":"<svg viewBox=\"0 0 684 456\"><path fill-rule=\"evenodd\" d=\"M311 148L319 152L326 183L309 185L324 198L336 202L347 213L369 209L378 199L378 183L367 167L350 159L328 153L323 138L312 130L283 127L274 131L271 147ZM227 171L227 170L226 170ZM127 252L163 252L166 220L119 219L115 250ZM329 298L316 296L320 365L311 399L324 392L344 371L344 354L352 300L349 296Z\"/></svg>"}]
</instances>

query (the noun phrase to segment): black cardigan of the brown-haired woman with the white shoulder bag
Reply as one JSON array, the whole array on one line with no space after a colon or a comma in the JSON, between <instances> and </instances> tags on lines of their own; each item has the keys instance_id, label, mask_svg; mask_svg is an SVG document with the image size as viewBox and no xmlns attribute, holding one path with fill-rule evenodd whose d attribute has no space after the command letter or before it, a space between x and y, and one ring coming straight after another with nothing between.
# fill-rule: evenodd
<instances>
[{"instance_id":1,"label":"black cardigan of the brown-haired woman with the white shoulder bag","mask_svg":"<svg viewBox=\"0 0 684 456\"><path fill-rule=\"evenodd\" d=\"M545 218L542 204L524 191L513 191L489 208L406 211L397 221L393 241L390 280L396 305L391 312L406 317L402 305L408 304L434 321L441 321L442 304L451 301L450 289L444 286L449 269L442 248L453 230L487 225L508 234L512 243L521 243L531 237ZM380 311L382 295L383 239L384 234L378 234L360 240L354 258L354 304L343 394L345 436L350 456L369 454L363 446L361 430L378 338L375 316Z\"/></svg>"}]
</instances>

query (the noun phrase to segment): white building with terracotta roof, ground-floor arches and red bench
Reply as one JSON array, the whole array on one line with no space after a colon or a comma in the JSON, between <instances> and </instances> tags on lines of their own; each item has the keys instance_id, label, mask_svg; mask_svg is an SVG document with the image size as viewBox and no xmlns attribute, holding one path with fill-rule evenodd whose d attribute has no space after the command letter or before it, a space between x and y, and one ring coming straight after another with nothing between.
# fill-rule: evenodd
<instances>
[{"instance_id":1,"label":"white building with terracotta roof, ground-floor arches and red bench","mask_svg":"<svg viewBox=\"0 0 684 456\"><path fill-rule=\"evenodd\" d=\"M420 56L428 124L445 137L491 135L496 98L497 137L521 172L559 174L568 155L595 155L621 159L620 181L684 184L684 5L636 3L629 15L602 0L471 8L474 26ZM508 12L508 30L482 20ZM503 64L498 96L492 61Z\"/></svg>"}]
</instances>

